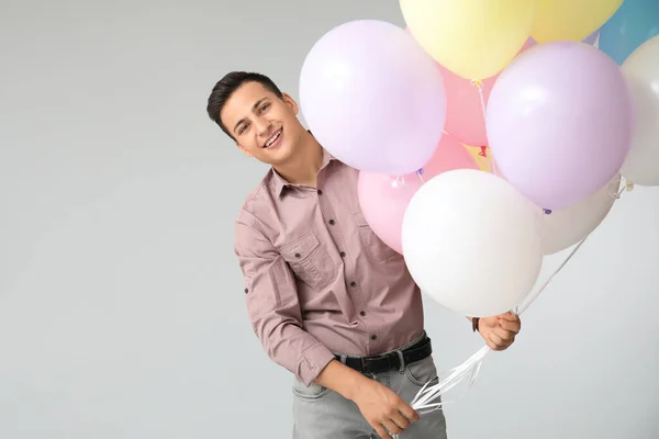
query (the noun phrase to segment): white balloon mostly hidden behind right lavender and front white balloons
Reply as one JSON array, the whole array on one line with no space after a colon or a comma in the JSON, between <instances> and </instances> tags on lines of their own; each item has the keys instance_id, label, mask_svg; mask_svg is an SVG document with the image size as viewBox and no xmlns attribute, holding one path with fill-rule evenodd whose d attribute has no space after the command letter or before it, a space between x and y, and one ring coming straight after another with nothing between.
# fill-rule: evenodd
<instances>
[{"instance_id":1,"label":"white balloon mostly hidden behind right lavender and front white balloons","mask_svg":"<svg viewBox=\"0 0 659 439\"><path fill-rule=\"evenodd\" d=\"M621 187L621 176L590 198L570 207L554 211L541 219L543 250L552 255L565 250L592 233L611 211ZM543 212L538 207L539 212Z\"/></svg>"}]
</instances>

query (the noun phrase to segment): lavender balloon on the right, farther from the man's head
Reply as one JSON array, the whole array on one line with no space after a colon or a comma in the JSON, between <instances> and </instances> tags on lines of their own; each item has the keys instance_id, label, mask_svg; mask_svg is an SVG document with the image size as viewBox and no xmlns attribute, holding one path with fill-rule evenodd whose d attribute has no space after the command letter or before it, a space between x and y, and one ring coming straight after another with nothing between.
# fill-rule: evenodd
<instances>
[{"instance_id":1,"label":"lavender balloon on the right, farther from the man's head","mask_svg":"<svg viewBox=\"0 0 659 439\"><path fill-rule=\"evenodd\" d=\"M621 169L632 111L613 59L584 43L545 43L517 56L494 83L488 139L513 187L540 207L565 209Z\"/></svg>"}]
</instances>

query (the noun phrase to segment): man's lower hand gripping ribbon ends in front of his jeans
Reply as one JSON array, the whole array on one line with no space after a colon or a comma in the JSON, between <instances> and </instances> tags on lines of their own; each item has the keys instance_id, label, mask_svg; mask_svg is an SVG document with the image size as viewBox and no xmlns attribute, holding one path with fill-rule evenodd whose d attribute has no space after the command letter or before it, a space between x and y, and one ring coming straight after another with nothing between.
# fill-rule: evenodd
<instances>
[{"instance_id":1,"label":"man's lower hand gripping ribbon ends in front of his jeans","mask_svg":"<svg viewBox=\"0 0 659 439\"><path fill-rule=\"evenodd\" d=\"M366 376L356 389L353 402L382 439L391 439L387 431L400 435L410 427L411 420L418 420L418 414L391 389Z\"/></svg>"}]
</instances>

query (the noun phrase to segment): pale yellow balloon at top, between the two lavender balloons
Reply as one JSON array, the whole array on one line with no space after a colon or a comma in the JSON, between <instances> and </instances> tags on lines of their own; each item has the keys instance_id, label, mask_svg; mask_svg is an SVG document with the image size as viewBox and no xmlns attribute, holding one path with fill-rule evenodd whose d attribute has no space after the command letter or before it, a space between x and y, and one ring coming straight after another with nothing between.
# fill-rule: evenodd
<instances>
[{"instance_id":1,"label":"pale yellow balloon at top, between the two lavender balloons","mask_svg":"<svg viewBox=\"0 0 659 439\"><path fill-rule=\"evenodd\" d=\"M528 40L537 0L400 0L410 32L466 79L496 75Z\"/></svg>"}]
</instances>

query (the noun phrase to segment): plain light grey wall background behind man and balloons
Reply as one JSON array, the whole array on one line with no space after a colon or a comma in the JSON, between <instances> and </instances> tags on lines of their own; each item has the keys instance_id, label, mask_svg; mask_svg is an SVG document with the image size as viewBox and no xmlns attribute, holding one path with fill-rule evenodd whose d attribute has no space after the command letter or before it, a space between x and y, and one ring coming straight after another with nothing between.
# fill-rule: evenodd
<instances>
[{"instance_id":1,"label":"plain light grey wall background behind man and balloons","mask_svg":"<svg viewBox=\"0 0 659 439\"><path fill-rule=\"evenodd\" d=\"M324 32L403 25L398 2L0 4L0 438L290 437L291 378L249 328L232 250L266 168L205 99L232 69L297 97ZM658 189L625 194L516 345L447 396L451 439L659 437L657 224ZM426 309L440 369L482 346Z\"/></svg>"}]
</instances>

